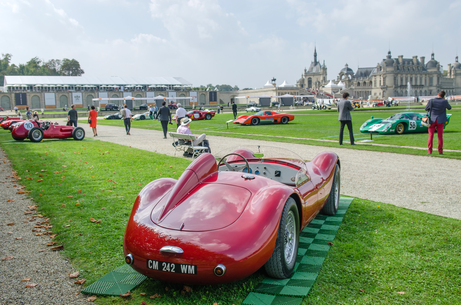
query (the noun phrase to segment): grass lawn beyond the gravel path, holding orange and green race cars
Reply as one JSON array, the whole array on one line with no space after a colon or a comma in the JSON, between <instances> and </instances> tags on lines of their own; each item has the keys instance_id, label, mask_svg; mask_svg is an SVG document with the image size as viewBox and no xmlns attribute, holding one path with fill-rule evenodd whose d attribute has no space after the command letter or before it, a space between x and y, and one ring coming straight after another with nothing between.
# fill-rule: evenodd
<instances>
[{"instance_id":1,"label":"grass lawn beyond the gravel path, holding orange and green race cars","mask_svg":"<svg viewBox=\"0 0 461 305\"><path fill-rule=\"evenodd\" d=\"M395 108L395 107L394 107ZM370 139L370 135L362 134L359 128L363 122L374 117L390 117L396 111L384 110L379 108L375 111L353 111L352 123L355 132L356 141ZM389 109L389 108L388 108ZM288 111L287 111L288 112ZM257 126L241 126L229 123L227 129L226 121L233 119L229 112L224 114L216 114L211 120L193 121L191 129L196 134L206 133L207 135L231 136L255 140L282 141L289 143L300 143L310 145L321 145L327 147L340 147L338 142L318 141L312 139L339 140L339 123L338 113L336 110L321 110L321 111L292 111L295 114L295 120L288 125L257 125ZM449 111L452 114L450 123L443 132L443 148L461 150L461 107L453 108ZM239 115L245 112L239 112ZM98 124L123 126L121 120L98 120ZM160 122L152 120L133 121L133 127L145 129L161 130ZM169 131L176 131L176 125L168 125ZM269 135L269 136L268 136ZM275 136L274 136L275 135ZM296 137L291 139L287 137ZM344 141L349 140L349 132L344 133ZM404 135L373 135L373 143L427 147L427 134L404 134ZM437 147L437 136L434 139L434 147ZM350 147L346 144L344 147ZM380 147L372 145L356 145L355 149L382 151L382 152L399 152L418 155L426 155L426 150L409 149L402 147ZM438 157L438 154L433 154ZM461 152L444 152L444 158L461 159Z\"/></svg>"}]
</instances>

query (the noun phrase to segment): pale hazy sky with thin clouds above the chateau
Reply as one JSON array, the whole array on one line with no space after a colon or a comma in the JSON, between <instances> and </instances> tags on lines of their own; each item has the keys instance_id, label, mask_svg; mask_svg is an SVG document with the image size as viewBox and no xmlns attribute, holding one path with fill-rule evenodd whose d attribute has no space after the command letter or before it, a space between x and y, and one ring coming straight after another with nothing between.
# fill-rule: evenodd
<instances>
[{"instance_id":1,"label":"pale hazy sky with thin clouds above the chateau","mask_svg":"<svg viewBox=\"0 0 461 305\"><path fill-rule=\"evenodd\" d=\"M414 55L444 69L461 47L461 0L0 0L0 53L12 63L77 59L86 76L180 76L195 86L296 84L317 59ZM460 48L461 51L461 48Z\"/></svg>"}]
</instances>

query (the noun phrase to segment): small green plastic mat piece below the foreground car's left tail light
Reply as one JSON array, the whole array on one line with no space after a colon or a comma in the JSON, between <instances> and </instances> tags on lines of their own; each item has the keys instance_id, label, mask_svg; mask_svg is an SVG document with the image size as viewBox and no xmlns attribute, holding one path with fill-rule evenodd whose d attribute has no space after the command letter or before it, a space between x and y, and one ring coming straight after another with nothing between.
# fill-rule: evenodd
<instances>
[{"instance_id":1,"label":"small green plastic mat piece below the foreground car's left tail light","mask_svg":"<svg viewBox=\"0 0 461 305\"><path fill-rule=\"evenodd\" d=\"M83 293L100 295L120 295L141 284L146 276L136 272L129 265L124 264L107 273L99 280L82 290Z\"/></svg>"}]
</instances>

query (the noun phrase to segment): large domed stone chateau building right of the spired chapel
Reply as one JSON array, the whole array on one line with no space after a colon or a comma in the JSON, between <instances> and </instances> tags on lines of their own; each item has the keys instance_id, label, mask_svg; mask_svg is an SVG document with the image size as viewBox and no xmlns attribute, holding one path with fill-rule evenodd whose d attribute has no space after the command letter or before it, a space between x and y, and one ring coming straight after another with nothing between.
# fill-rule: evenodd
<instances>
[{"instance_id":1,"label":"large domed stone chateau building right of the spired chapel","mask_svg":"<svg viewBox=\"0 0 461 305\"><path fill-rule=\"evenodd\" d=\"M354 71L346 64L339 72L337 82L342 81L345 88L356 99L387 98L390 96L428 96L436 95L440 90L447 95L461 91L461 64L458 57L454 64L448 65L448 75L443 76L440 63L431 54L431 60L425 63L425 57L411 59L399 55L392 59L390 51L376 67L358 68ZM410 85L408 87L408 84ZM409 92L408 92L409 89Z\"/></svg>"}]
</instances>

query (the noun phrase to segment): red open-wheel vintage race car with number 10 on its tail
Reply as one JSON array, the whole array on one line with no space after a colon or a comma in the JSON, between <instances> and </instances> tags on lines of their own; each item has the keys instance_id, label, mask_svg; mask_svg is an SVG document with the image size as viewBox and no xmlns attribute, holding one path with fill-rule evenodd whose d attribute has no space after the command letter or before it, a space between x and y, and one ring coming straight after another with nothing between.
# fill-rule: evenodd
<instances>
[{"instance_id":1,"label":"red open-wheel vintage race car with number 10 on its tail","mask_svg":"<svg viewBox=\"0 0 461 305\"><path fill-rule=\"evenodd\" d=\"M11 135L16 141L30 139L32 142L40 142L43 139L67 138L81 141L85 137L85 130L82 127L53 124L49 121L24 121L13 128Z\"/></svg>"}]
</instances>

